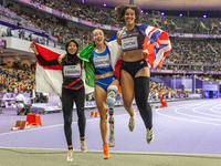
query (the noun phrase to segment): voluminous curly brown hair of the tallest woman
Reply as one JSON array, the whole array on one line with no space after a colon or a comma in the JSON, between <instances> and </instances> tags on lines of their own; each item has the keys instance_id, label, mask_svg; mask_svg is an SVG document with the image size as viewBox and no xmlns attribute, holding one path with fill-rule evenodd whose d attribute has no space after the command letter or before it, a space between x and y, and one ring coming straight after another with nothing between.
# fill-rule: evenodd
<instances>
[{"instance_id":1,"label":"voluminous curly brown hair of the tallest woman","mask_svg":"<svg viewBox=\"0 0 221 166\"><path fill-rule=\"evenodd\" d=\"M140 14L140 9L137 6L118 6L115 8L115 12L114 15L116 17L116 19L119 22L125 22L125 20L123 19L123 17L125 15L125 12L127 9L131 9L135 11L135 23L139 23L140 19L141 19L141 14Z\"/></svg>"}]
</instances>

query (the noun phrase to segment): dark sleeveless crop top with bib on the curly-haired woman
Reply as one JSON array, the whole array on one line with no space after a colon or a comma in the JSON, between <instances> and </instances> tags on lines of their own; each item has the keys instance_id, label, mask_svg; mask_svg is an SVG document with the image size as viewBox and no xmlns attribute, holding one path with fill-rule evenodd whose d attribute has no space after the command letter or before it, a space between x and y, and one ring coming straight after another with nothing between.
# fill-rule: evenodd
<instances>
[{"instance_id":1,"label":"dark sleeveless crop top with bib on the curly-haired woman","mask_svg":"<svg viewBox=\"0 0 221 166\"><path fill-rule=\"evenodd\" d=\"M140 32L139 28L135 25L134 29L126 31L126 28L123 29L122 34L119 37L122 41L123 51L131 51L131 50L143 50L145 37Z\"/></svg>"}]
</instances>

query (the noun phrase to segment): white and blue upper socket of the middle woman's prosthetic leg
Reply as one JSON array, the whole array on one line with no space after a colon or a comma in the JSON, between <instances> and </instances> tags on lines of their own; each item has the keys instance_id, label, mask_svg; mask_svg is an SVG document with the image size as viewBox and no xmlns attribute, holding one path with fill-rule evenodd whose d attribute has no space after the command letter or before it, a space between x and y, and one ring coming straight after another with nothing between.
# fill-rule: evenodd
<instances>
[{"instance_id":1,"label":"white and blue upper socket of the middle woman's prosthetic leg","mask_svg":"<svg viewBox=\"0 0 221 166\"><path fill-rule=\"evenodd\" d=\"M116 85L110 85L110 86L108 86L107 92L108 92L107 93L107 105L109 107L114 107L115 97L118 92L118 87Z\"/></svg>"}]
</instances>

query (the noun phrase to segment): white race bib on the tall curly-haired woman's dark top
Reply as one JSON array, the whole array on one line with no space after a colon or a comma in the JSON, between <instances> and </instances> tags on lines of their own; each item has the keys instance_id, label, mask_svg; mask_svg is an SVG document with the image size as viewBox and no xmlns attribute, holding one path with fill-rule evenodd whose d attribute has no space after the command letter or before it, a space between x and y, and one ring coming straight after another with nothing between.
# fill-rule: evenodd
<instances>
[{"instance_id":1,"label":"white race bib on the tall curly-haired woman's dark top","mask_svg":"<svg viewBox=\"0 0 221 166\"><path fill-rule=\"evenodd\" d=\"M130 37L122 40L124 51L138 49L137 37Z\"/></svg>"}]
</instances>

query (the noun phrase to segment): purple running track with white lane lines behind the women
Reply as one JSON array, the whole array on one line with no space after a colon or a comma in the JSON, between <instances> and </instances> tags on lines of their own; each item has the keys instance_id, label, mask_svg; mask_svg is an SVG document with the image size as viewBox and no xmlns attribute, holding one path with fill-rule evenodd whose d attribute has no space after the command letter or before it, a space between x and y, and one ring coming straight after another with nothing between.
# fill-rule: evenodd
<instances>
[{"instance_id":1,"label":"purple running track with white lane lines behind the women","mask_svg":"<svg viewBox=\"0 0 221 166\"><path fill-rule=\"evenodd\" d=\"M99 118L91 118L91 111L85 112L87 148L102 151ZM116 143L112 152L221 155L221 100L170 102L167 108L154 108L155 139L150 145L146 143L139 112L136 113L136 128L129 132L129 115L124 107L115 108ZM73 116L73 145L80 149L76 112ZM12 111L0 114L0 147L66 149L62 113L41 115L42 127L10 131L19 118L25 117Z\"/></svg>"}]
</instances>

